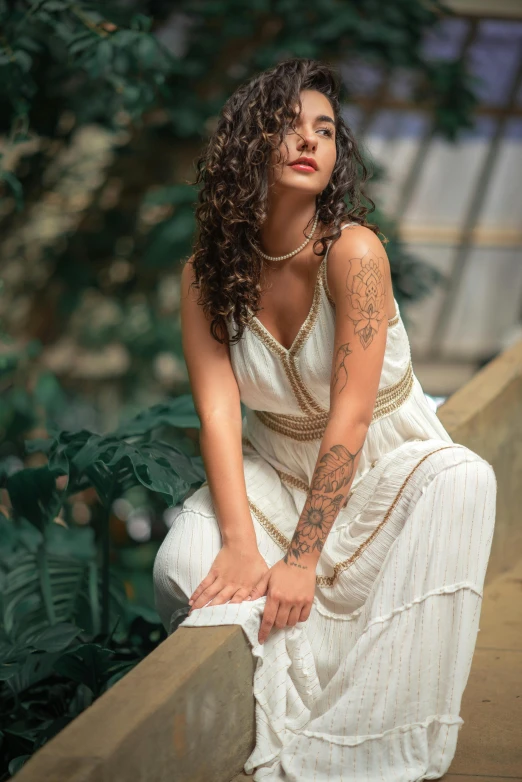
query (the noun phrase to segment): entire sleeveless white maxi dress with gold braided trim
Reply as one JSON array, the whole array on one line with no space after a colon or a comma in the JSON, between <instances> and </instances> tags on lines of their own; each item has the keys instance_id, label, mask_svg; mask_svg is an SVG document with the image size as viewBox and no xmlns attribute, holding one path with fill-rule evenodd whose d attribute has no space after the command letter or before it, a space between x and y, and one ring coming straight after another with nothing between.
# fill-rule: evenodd
<instances>
[{"instance_id":1,"label":"entire sleeveless white maxi dress with gold braided trim","mask_svg":"<svg viewBox=\"0 0 522 782\"><path fill-rule=\"evenodd\" d=\"M327 258L290 349L257 318L231 346L247 408L249 506L270 567L297 526L328 418L335 309ZM317 564L308 620L274 627L259 644L265 596L209 605L181 625L239 624L248 638L256 744L244 771L255 782L417 782L441 777L455 754L496 479L488 462L453 442L430 407L395 306L373 420ZM156 603L167 630L220 548L204 483L183 503L156 558Z\"/></svg>"}]
</instances>

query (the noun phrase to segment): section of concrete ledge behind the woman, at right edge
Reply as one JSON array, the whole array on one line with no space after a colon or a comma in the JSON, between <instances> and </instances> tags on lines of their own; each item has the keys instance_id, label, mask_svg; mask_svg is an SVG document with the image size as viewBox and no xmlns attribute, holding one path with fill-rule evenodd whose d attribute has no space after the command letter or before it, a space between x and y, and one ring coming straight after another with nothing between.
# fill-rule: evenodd
<instances>
[{"instance_id":1,"label":"section of concrete ledge behind the woman, at right edge","mask_svg":"<svg viewBox=\"0 0 522 782\"><path fill-rule=\"evenodd\" d=\"M451 437L497 476L497 516L486 583L522 558L522 342L483 367L438 409Z\"/></svg>"}]
</instances>

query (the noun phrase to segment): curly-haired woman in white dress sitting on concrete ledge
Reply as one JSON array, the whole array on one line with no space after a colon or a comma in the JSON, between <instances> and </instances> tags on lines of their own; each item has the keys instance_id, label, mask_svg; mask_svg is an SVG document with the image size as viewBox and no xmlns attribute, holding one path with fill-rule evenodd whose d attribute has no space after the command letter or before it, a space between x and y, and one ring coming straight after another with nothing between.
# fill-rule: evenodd
<instances>
[{"instance_id":1,"label":"curly-haired woman in white dress sitting on concrete ledge","mask_svg":"<svg viewBox=\"0 0 522 782\"><path fill-rule=\"evenodd\" d=\"M366 177L337 77L302 59L238 89L198 163L182 330L208 482L155 589L167 629L180 599L184 627L243 627L255 780L434 779L463 724L495 475L412 371Z\"/></svg>"}]
</instances>

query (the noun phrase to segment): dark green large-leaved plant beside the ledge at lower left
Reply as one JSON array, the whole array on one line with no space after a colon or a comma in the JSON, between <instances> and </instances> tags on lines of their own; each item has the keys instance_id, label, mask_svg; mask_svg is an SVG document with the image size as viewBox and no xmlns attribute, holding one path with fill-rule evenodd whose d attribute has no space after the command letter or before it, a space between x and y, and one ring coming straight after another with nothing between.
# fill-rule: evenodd
<instances>
[{"instance_id":1,"label":"dark green large-leaved plant beside the ledge at lower left","mask_svg":"<svg viewBox=\"0 0 522 782\"><path fill-rule=\"evenodd\" d=\"M11 514L0 514L3 778L165 637L155 613L129 603L111 573L109 516L136 484L170 507L201 485L201 458L159 434L198 425L191 398L180 397L106 435L55 431L28 441L27 452L45 453L47 463L4 474ZM60 515L88 488L103 510L95 528Z\"/></svg>"}]
</instances>

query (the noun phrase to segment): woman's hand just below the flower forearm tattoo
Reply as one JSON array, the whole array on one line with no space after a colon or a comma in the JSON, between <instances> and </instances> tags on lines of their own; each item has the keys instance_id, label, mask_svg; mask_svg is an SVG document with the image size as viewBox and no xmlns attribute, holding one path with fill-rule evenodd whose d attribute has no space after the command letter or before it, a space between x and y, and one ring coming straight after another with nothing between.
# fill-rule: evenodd
<instances>
[{"instance_id":1,"label":"woman's hand just below the flower forearm tattoo","mask_svg":"<svg viewBox=\"0 0 522 782\"><path fill-rule=\"evenodd\" d=\"M267 594L263 621L259 628L259 643L265 642L270 630L294 627L310 616L315 593L315 567L312 564L286 564L284 559L261 577L250 593L252 600Z\"/></svg>"}]
</instances>

